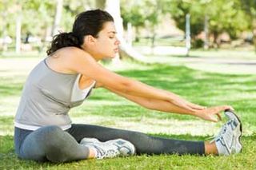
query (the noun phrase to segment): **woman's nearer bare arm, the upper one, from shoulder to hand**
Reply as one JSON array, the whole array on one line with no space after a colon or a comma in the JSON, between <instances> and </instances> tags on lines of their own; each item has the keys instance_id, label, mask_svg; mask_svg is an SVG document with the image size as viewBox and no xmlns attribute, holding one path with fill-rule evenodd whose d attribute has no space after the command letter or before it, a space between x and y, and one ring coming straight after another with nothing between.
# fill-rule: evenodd
<instances>
[{"instance_id":1,"label":"woman's nearer bare arm, the upper one, from shoulder to hand","mask_svg":"<svg viewBox=\"0 0 256 170\"><path fill-rule=\"evenodd\" d=\"M99 65L89 53L75 47L67 47L66 51L62 51L62 57L65 57L66 68L76 73L82 73L86 77L90 77L101 83L103 86L108 86L121 93L126 93L131 96L153 98L162 101L169 101L178 107L194 112L194 109L181 101L172 93L166 93L162 90L155 89L150 85L143 84L139 81L134 81L127 77L122 77L117 73Z\"/></svg>"}]
</instances>

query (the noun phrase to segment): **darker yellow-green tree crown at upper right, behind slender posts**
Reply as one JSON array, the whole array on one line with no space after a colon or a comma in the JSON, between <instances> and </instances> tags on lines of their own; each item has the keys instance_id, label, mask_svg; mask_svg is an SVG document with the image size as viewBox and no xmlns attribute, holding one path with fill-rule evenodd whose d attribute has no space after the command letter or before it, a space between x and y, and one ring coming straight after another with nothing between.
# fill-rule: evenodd
<instances>
[{"instance_id":1,"label":"darker yellow-green tree crown at upper right, behind slender posts","mask_svg":"<svg viewBox=\"0 0 256 170\"><path fill-rule=\"evenodd\" d=\"M231 38L237 38L242 30L248 28L248 20L238 0L173 0L171 2L172 7L170 10L167 9L167 12L172 15L181 30L184 30L186 14L190 14L192 38L202 32L206 16L209 19L209 32L214 35L216 44L218 35L222 32L227 32Z\"/></svg>"}]
</instances>

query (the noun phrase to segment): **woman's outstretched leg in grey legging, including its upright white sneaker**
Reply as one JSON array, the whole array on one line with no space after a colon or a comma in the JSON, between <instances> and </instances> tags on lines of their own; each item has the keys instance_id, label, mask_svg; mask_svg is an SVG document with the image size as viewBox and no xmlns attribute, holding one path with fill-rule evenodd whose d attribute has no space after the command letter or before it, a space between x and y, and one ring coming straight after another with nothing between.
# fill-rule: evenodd
<instances>
[{"instance_id":1,"label":"woman's outstretched leg in grey legging, including its upright white sneaker","mask_svg":"<svg viewBox=\"0 0 256 170\"><path fill-rule=\"evenodd\" d=\"M68 132L80 142L82 138L97 138L106 141L117 138L130 141L134 144L138 154L161 154L178 153L199 155L230 155L242 151L242 122L238 116L227 110L225 112L229 121L222 125L218 136L212 142L172 140L161 137L148 136L142 132L120 130L116 128L105 128L96 125L72 125Z\"/></svg>"}]
</instances>

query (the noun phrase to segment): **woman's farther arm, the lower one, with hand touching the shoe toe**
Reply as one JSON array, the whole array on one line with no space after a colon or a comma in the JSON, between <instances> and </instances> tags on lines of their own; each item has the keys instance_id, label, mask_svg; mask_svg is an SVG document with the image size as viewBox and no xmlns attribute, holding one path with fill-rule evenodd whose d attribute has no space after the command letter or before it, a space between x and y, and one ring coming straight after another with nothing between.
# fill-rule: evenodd
<instances>
[{"instance_id":1,"label":"woman's farther arm, the lower one, with hand touching the shoe toe","mask_svg":"<svg viewBox=\"0 0 256 170\"><path fill-rule=\"evenodd\" d=\"M104 88L110 90L113 93L118 94L121 97L125 97L126 99L133 101L134 103L137 103L138 105L141 105L142 107L144 107L146 109L158 110L158 111L162 111L162 112L166 112L166 113L188 114L188 115L192 115L194 117L199 117L206 121L217 122L218 119L221 120L221 116L219 114L220 112L222 112L226 109L232 109L232 107L230 107L228 105L223 105L223 106L211 107L208 109L197 110L196 112L191 112L188 109L182 109L181 107L178 107L177 105L173 105L172 103L170 103L168 101L131 96L126 93L118 92L114 89L111 89L110 87L105 86Z\"/></svg>"}]
</instances>

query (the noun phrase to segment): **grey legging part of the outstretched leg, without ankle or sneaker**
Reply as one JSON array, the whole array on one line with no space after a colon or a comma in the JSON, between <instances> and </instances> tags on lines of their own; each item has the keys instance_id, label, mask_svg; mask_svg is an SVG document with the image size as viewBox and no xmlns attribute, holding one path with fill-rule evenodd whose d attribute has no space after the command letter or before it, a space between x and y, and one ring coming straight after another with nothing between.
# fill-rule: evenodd
<instances>
[{"instance_id":1,"label":"grey legging part of the outstretched leg, without ankle or sneaker","mask_svg":"<svg viewBox=\"0 0 256 170\"><path fill-rule=\"evenodd\" d=\"M84 137L94 137L101 141L122 138L134 144L137 154L205 154L203 141L166 139L148 136L142 132L105 128L97 125L72 125L72 128L69 128L67 132L74 136L78 142Z\"/></svg>"}]
</instances>

